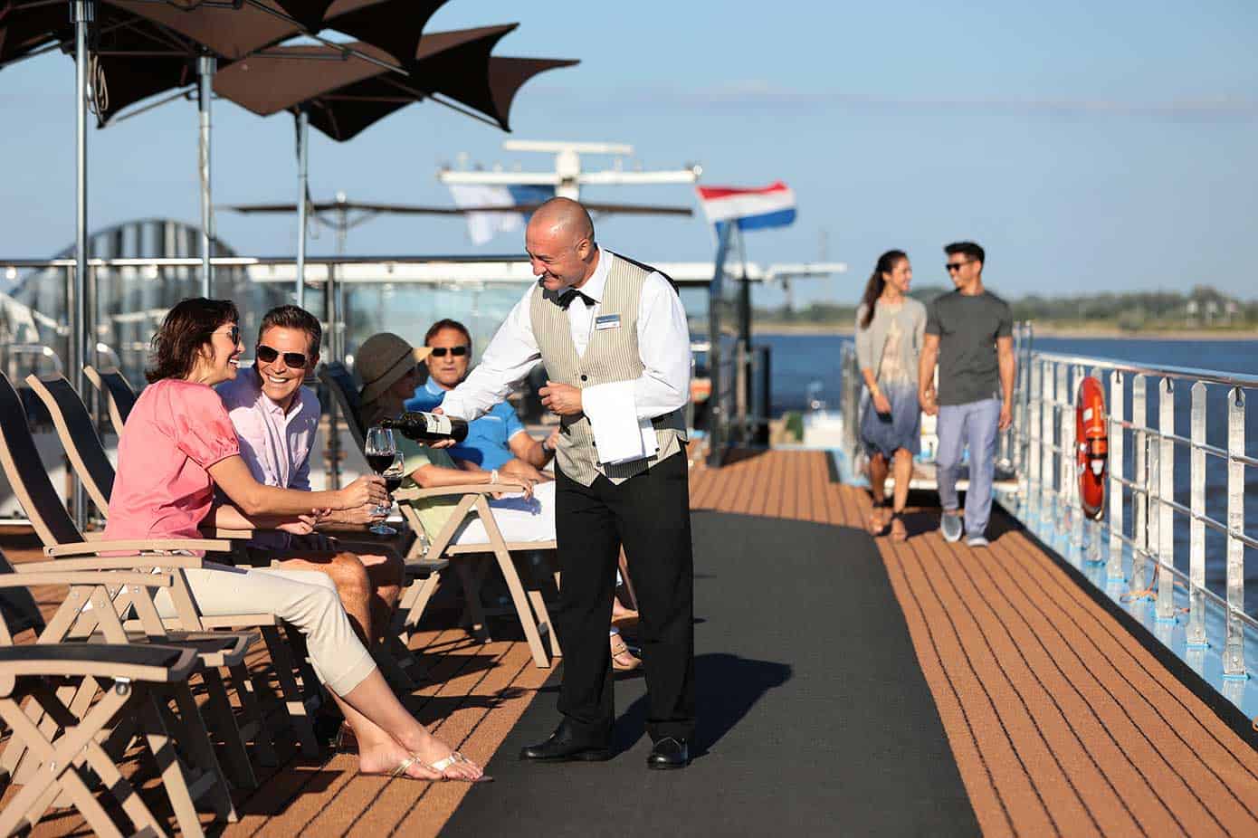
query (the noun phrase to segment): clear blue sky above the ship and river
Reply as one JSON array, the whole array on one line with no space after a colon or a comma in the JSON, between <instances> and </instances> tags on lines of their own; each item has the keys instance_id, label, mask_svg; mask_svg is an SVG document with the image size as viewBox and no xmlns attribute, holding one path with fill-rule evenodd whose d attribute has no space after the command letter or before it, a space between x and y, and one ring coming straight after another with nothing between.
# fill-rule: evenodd
<instances>
[{"instance_id":1,"label":"clear blue sky above the ship and river","mask_svg":"<svg viewBox=\"0 0 1258 838\"><path fill-rule=\"evenodd\" d=\"M771 9L772 15L765 10ZM1258 298L1258 6L1127 0L540 4L452 0L430 29L520 21L503 55L579 58L516 98L518 138L626 142L648 167L699 161L710 185L790 184L793 228L749 235L749 258L821 255L850 272L796 299L852 301L877 255L906 249L945 282L940 247L972 238L988 282L1033 292L1216 286ZM48 55L0 72L0 254L73 239L73 68ZM215 201L291 200L292 120L215 111ZM350 143L312 133L311 190L448 204L435 170L548 165L430 103ZM92 131L91 223L198 218L196 112L169 104ZM596 162L596 161L595 161ZM693 203L684 186L590 189L590 200ZM237 250L288 254L289 219L218 216ZM611 218L600 239L644 260L711 257L693 220ZM823 253L823 239L827 243ZM499 237L481 250L521 247ZM331 235L311 252L331 253ZM469 253L458 220L377 219L362 254ZM766 292L761 302L772 303Z\"/></svg>"}]
</instances>

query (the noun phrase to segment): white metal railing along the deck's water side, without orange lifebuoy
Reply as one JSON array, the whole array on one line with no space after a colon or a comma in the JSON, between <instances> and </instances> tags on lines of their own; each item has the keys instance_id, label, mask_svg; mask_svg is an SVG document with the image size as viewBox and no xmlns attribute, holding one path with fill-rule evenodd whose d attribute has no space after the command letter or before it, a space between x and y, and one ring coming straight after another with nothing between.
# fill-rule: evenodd
<instances>
[{"instance_id":1,"label":"white metal railing along the deck's water side, without orange lifebuoy","mask_svg":"<svg viewBox=\"0 0 1258 838\"><path fill-rule=\"evenodd\" d=\"M1245 447L1247 408L1258 376L1035 351L1030 323L1018 323L1014 338L1014 424L996 461L1016 476L1016 491L1001 501L1043 540L1096 569L1094 581L1128 612L1147 613L1155 635L1208 679L1216 674L1229 700L1258 706L1258 690L1245 696L1244 688L1254 668L1245 656L1258 653L1250 617L1258 585L1248 612L1245 603L1245 554L1258 550L1245 531L1247 469L1258 468ZM863 388L854 344L844 344L840 364L842 448L852 463ZM1107 497L1098 520L1083 513L1078 496L1084 376L1106 395Z\"/></svg>"}]
</instances>

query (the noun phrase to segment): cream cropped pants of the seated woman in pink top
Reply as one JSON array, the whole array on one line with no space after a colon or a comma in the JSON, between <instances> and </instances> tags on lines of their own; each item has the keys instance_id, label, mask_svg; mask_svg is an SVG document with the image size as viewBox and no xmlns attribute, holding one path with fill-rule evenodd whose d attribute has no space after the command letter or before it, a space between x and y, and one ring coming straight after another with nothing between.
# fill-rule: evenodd
<instances>
[{"instance_id":1,"label":"cream cropped pants of the seated woman in pink top","mask_svg":"<svg viewBox=\"0 0 1258 838\"><path fill-rule=\"evenodd\" d=\"M203 617L274 614L297 627L306 635L314 673L337 696L357 687L376 668L353 633L336 595L336 584L327 574L210 562L204 569L184 573ZM156 604L162 617L175 615L174 603L165 590L156 596Z\"/></svg>"}]
</instances>

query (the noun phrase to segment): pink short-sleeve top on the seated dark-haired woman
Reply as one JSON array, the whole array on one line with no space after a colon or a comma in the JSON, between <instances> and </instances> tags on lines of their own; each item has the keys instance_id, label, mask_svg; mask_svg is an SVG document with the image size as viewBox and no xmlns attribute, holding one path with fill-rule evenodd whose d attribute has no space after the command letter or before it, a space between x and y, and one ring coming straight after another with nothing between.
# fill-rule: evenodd
<instances>
[{"instance_id":1,"label":"pink short-sleeve top on the seated dark-haired woman","mask_svg":"<svg viewBox=\"0 0 1258 838\"><path fill-rule=\"evenodd\" d=\"M145 388L118 440L108 540L199 539L214 501L209 468L240 453L219 395L162 379Z\"/></svg>"}]
</instances>

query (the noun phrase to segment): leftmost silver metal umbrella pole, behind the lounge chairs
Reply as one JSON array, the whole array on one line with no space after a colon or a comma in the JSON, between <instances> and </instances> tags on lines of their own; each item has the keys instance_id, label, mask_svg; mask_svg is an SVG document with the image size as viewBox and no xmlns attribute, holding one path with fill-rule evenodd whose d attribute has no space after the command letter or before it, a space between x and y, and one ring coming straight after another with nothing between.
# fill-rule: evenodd
<instances>
[{"instance_id":1,"label":"leftmost silver metal umbrella pole, behind the lounge chairs","mask_svg":"<svg viewBox=\"0 0 1258 838\"><path fill-rule=\"evenodd\" d=\"M87 33L96 18L96 3L72 0L74 21L74 282L67 288L67 313L70 320L69 380L79 394L83 388L83 356L87 345ZM74 523L79 531L87 525L87 493L83 482L74 478Z\"/></svg>"}]
</instances>

